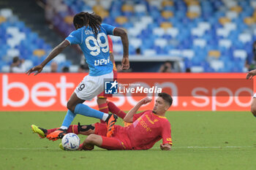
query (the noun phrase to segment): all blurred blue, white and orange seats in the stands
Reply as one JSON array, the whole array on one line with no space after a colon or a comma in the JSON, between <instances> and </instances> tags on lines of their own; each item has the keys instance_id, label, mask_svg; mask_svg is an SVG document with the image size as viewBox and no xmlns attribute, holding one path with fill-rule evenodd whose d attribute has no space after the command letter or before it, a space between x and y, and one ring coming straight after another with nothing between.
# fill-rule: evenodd
<instances>
[{"instance_id":1,"label":"all blurred blue, white and orange seats in the stands","mask_svg":"<svg viewBox=\"0 0 256 170\"><path fill-rule=\"evenodd\" d=\"M244 72L244 66L236 64L246 61L256 38L254 0L60 0L55 3L57 13L52 23L65 36L74 30L75 13L95 12L102 16L104 23L127 30L130 54L140 48L146 56L175 55L183 58L183 65L191 66L192 72ZM1 58L12 53L33 58L31 61L37 63L35 56L45 56L49 48L22 22L11 23L11 18L17 19L13 18L11 9L0 10ZM121 55L121 39L113 37L113 50L115 55ZM66 60L59 57L57 61Z\"/></svg>"}]
</instances>

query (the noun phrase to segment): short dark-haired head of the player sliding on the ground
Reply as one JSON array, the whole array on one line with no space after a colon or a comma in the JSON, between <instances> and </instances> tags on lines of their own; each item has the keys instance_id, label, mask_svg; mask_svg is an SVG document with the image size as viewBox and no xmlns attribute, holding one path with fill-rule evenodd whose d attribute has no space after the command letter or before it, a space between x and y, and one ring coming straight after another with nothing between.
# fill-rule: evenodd
<instances>
[{"instance_id":1,"label":"short dark-haired head of the player sliding on the ground","mask_svg":"<svg viewBox=\"0 0 256 170\"><path fill-rule=\"evenodd\" d=\"M173 98L167 93L158 93L158 98L154 104L154 113L163 114L173 104Z\"/></svg>"}]
</instances>

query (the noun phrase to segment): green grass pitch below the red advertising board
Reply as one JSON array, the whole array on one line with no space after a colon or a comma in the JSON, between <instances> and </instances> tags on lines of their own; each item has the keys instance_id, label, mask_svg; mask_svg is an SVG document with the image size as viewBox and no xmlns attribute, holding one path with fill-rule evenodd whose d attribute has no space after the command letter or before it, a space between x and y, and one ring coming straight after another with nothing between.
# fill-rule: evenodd
<instances>
[{"instance_id":1,"label":"green grass pitch below the red advertising board","mask_svg":"<svg viewBox=\"0 0 256 170\"><path fill-rule=\"evenodd\" d=\"M31 124L61 125L65 112L0 112L0 169L256 169L256 118L250 112L167 112L172 126L171 151L69 152L39 139ZM78 115L73 123L95 123ZM118 120L121 124L121 120ZM80 136L85 139L86 136ZM162 142L162 141L161 141Z\"/></svg>"}]
</instances>

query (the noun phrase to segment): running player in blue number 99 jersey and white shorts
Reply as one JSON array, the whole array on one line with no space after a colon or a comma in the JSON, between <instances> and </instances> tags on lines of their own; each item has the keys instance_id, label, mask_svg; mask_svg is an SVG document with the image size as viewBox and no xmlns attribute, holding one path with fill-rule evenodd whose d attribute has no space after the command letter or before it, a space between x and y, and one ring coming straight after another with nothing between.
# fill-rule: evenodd
<instances>
[{"instance_id":1,"label":"running player in blue number 99 jersey and white shorts","mask_svg":"<svg viewBox=\"0 0 256 170\"><path fill-rule=\"evenodd\" d=\"M67 134L67 128L77 114L96 117L105 121L108 127L107 136L113 134L113 124L116 123L117 116L99 112L83 104L84 101L91 100L102 92L104 79L113 80L113 63L110 61L108 35L121 37L124 48L121 61L122 69L129 69L129 42L127 33L123 29L104 23L100 24L97 18L89 12L80 12L75 15L73 24L76 30L72 31L61 44L55 47L45 61L42 61L41 64L34 66L26 72L26 74L31 74L32 72L36 72L34 75L39 74L49 61L55 58L56 55L59 55L69 45L80 45L86 62L89 64L89 75L83 78L67 102L68 111L61 128L46 136L53 141L61 139Z\"/></svg>"}]
</instances>

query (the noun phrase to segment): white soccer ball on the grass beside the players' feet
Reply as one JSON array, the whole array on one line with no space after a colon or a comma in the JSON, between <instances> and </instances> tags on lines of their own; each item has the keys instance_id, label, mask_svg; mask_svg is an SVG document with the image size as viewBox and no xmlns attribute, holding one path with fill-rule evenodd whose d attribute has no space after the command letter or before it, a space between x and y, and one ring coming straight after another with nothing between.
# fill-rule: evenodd
<instances>
[{"instance_id":1,"label":"white soccer ball on the grass beside the players' feet","mask_svg":"<svg viewBox=\"0 0 256 170\"><path fill-rule=\"evenodd\" d=\"M61 144L64 150L78 150L80 139L78 135L69 133L62 138Z\"/></svg>"}]
</instances>

